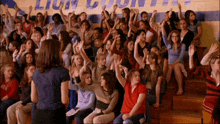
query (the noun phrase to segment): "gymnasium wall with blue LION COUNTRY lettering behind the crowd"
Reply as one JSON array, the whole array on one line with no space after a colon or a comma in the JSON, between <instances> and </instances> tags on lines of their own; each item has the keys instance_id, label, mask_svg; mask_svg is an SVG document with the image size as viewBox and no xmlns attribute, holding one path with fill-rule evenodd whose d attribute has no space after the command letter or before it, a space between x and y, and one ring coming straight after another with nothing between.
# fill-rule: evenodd
<instances>
[{"instance_id":1,"label":"gymnasium wall with blue LION COUNTRY lettering behind the crowd","mask_svg":"<svg viewBox=\"0 0 220 124\"><path fill-rule=\"evenodd\" d=\"M161 22L166 11L173 8L173 11L178 12L177 3L181 3L182 12L193 10L197 19L202 22L203 34L201 46L210 47L215 43L217 34L219 33L220 9L219 0L1 0L0 13L4 14L2 4L9 5L9 11L14 14L14 6L18 5L19 13L28 12L28 7L32 6L34 11L32 16L37 12L44 13L48 11L48 22L52 21L51 16L54 13L59 13L60 3L64 4L63 12L68 14L75 11L76 14L85 11L88 14L88 20L97 26L101 22L102 6L106 5L106 10L111 12L114 4L118 4L116 14L121 17L121 9L129 7L130 9L139 9L139 12L146 11L151 16L153 10L157 10L156 22ZM140 14L139 14L140 19Z\"/></svg>"}]
</instances>

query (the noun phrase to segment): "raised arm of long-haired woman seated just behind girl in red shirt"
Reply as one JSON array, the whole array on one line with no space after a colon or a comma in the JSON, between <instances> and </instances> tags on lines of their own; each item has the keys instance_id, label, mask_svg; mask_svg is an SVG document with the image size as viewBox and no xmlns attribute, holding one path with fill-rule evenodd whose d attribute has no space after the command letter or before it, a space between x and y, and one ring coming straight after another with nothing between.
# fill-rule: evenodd
<instances>
[{"instance_id":1,"label":"raised arm of long-haired woman seated just behind girl in red shirt","mask_svg":"<svg viewBox=\"0 0 220 124\"><path fill-rule=\"evenodd\" d=\"M142 61L140 55L138 54L138 43L139 42L140 42L140 37L138 36L134 44L134 58L137 61L137 63L140 65L140 68L144 68L145 63Z\"/></svg>"}]
</instances>

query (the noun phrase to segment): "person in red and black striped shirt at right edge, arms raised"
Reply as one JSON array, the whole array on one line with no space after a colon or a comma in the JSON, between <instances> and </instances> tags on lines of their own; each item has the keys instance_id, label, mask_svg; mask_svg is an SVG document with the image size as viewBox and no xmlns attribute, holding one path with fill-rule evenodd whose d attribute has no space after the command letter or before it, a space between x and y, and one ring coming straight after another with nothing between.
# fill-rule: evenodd
<instances>
[{"instance_id":1,"label":"person in red and black striped shirt at right edge, arms raised","mask_svg":"<svg viewBox=\"0 0 220 124\"><path fill-rule=\"evenodd\" d=\"M200 70L194 66L193 54L195 52L195 46L191 45L189 47L189 68L194 75L200 75L206 79L207 90L203 109L210 114L213 113L216 101L220 97L220 56L213 56L213 54L218 51L218 46L219 43L212 44L208 53L201 60L201 65L209 65L211 67L211 72ZM213 120L212 117L210 123L215 123L215 120Z\"/></svg>"}]
</instances>

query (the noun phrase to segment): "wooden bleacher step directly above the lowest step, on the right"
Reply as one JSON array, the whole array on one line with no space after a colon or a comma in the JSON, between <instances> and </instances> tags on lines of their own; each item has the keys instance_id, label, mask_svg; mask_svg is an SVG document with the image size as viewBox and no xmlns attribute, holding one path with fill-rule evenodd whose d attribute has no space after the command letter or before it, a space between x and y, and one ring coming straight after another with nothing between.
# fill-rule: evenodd
<instances>
[{"instance_id":1,"label":"wooden bleacher step directly above the lowest step, on the right","mask_svg":"<svg viewBox=\"0 0 220 124\"><path fill-rule=\"evenodd\" d=\"M181 96L174 96L173 109L202 112L204 97L205 95L196 95L196 94L184 94Z\"/></svg>"}]
</instances>

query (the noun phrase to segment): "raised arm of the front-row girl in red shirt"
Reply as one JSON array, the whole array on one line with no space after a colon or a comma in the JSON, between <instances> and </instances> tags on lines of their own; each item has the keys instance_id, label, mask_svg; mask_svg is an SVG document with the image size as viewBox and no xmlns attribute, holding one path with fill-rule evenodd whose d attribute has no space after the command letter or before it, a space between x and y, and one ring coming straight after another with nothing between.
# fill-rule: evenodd
<instances>
[{"instance_id":1,"label":"raised arm of the front-row girl in red shirt","mask_svg":"<svg viewBox=\"0 0 220 124\"><path fill-rule=\"evenodd\" d=\"M116 77L117 77L119 83L122 85L122 87L124 87L125 83L126 83L126 79L124 79L122 77L120 69L119 69L119 65L121 64L122 60L119 60L119 55L116 55L114 59L115 59L114 63L115 63L115 74L116 74Z\"/></svg>"}]
</instances>

